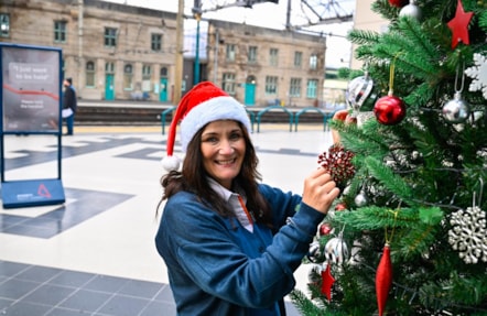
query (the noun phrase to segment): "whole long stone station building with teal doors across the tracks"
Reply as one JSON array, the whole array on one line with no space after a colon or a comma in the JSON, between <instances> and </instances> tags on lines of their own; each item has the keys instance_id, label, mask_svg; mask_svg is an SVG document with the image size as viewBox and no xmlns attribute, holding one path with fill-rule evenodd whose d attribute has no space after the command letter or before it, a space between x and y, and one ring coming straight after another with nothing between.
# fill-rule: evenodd
<instances>
[{"instance_id":1,"label":"whole long stone station building with teal doors across the tracks","mask_svg":"<svg viewBox=\"0 0 487 316\"><path fill-rule=\"evenodd\" d=\"M61 47L63 76L83 99L171 102L176 18L100 0L1 0L0 41ZM307 107L323 98L325 36L223 21L204 32L201 79L242 103ZM183 78L193 77L193 62L185 56Z\"/></svg>"}]
</instances>

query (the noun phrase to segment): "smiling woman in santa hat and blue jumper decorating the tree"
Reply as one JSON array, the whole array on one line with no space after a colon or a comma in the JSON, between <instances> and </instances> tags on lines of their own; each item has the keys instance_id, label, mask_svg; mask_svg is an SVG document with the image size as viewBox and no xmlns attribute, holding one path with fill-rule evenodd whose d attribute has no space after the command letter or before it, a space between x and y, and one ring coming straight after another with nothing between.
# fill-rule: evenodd
<instances>
[{"instance_id":1,"label":"smiling woman in santa hat and blue jumper decorating the tree","mask_svg":"<svg viewBox=\"0 0 487 316\"><path fill-rule=\"evenodd\" d=\"M210 83L188 91L174 115L155 244L181 316L285 315L293 272L338 195L323 168L305 178L302 197L259 183L249 130L245 108Z\"/></svg>"}]
</instances>

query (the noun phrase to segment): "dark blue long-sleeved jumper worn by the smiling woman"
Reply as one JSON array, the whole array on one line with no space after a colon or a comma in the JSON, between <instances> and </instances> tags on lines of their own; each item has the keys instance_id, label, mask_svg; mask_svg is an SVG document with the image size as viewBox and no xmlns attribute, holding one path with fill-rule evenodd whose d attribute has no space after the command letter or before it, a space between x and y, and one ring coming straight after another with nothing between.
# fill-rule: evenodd
<instances>
[{"instance_id":1,"label":"dark blue long-sleeved jumper worn by the smiling woman","mask_svg":"<svg viewBox=\"0 0 487 316\"><path fill-rule=\"evenodd\" d=\"M294 288L293 273L324 215L299 195L263 184L259 190L281 227L275 235L262 225L250 232L187 192L166 201L155 246L167 266L177 315L281 315L278 302Z\"/></svg>"}]
</instances>

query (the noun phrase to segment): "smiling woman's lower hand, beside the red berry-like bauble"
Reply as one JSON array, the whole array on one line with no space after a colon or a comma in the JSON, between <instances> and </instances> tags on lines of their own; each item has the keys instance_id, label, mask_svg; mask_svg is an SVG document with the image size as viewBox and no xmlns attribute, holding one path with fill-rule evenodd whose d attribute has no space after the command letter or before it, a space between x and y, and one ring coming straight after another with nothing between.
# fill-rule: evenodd
<instances>
[{"instance_id":1,"label":"smiling woman's lower hand, beside the red berry-like bauble","mask_svg":"<svg viewBox=\"0 0 487 316\"><path fill-rule=\"evenodd\" d=\"M304 179L302 201L317 211L326 214L338 194L339 188L336 187L332 176L326 170L318 167Z\"/></svg>"}]
</instances>

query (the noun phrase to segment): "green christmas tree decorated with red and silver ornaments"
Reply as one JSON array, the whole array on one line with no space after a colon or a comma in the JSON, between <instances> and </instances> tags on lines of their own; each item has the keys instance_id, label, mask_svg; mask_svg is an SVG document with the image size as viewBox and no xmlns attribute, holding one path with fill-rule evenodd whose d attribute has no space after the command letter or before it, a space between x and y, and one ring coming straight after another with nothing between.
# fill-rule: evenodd
<instances>
[{"instance_id":1,"label":"green christmas tree decorated with red and silver ornaments","mask_svg":"<svg viewBox=\"0 0 487 316\"><path fill-rule=\"evenodd\" d=\"M343 188L303 315L487 315L487 1L378 0L320 155ZM357 73L357 72L351 72Z\"/></svg>"}]
</instances>

